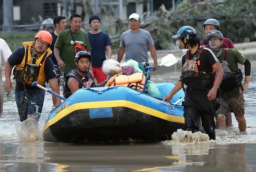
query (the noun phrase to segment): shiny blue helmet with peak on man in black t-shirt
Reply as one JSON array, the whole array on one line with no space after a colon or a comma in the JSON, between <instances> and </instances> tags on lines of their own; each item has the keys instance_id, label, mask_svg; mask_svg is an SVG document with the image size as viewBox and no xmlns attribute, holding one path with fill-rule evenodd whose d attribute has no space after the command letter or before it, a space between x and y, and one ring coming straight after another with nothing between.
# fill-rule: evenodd
<instances>
[{"instance_id":1,"label":"shiny blue helmet with peak on man in black t-shirt","mask_svg":"<svg viewBox=\"0 0 256 172\"><path fill-rule=\"evenodd\" d=\"M178 30L177 34L172 36L173 39L178 39L178 38L196 38L196 30L191 27L191 26L182 26Z\"/></svg>"}]
</instances>

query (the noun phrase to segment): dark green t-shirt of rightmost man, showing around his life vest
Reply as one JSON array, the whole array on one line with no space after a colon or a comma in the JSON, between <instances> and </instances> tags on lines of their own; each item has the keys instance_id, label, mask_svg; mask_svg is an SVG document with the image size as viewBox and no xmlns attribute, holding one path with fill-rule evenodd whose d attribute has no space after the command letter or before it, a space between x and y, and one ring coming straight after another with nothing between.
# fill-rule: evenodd
<instances>
[{"instance_id":1,"label":"dark green t-shirt of rightmost man, showing around his life vest","mask_svg":"<svg viewBox=\"0 0 256 172\"><path fill-rule=\"evenodd\" d=\"M222 63L224 59L224 48L222 48L221 55L218 57L220 63ZM232 72L236 72L238 70L237 63L240 63L241 65L244 65L244 62L246 61L246 57L239 53L236 49L228 49L228 67ZM233 90L230 91L222 91L220 93L220 98L229 99L229 98L235 98L240 95L239 93L240 86L237 86Z\"/></svg>"}]
</instances>

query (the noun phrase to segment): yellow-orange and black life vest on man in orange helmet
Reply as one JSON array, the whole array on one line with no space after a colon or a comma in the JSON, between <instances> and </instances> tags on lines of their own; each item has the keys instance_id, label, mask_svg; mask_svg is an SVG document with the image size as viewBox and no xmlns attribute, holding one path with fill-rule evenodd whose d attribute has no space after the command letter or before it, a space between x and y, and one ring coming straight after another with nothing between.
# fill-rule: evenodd
<instances>
[{"instance_id":1,"label":"yellow-orange and black life vest on man in orange helmet","mask_svg":"<svg viewBox=\"0 0 256 172\"><path fill-rule=\"evenodd\" d=\"M38 84L43 86L46 82L46 76L44 73L44 64L46 58L52 54L52 51L48 48L44 53L36 59L36 63L32 65L32 54L31 47L34 45L34 41L24 42L25 54L20 65L15 66L14 78L16 81L21 82L23 84L32 84L32 82L37 81Z\"/></svg>"}]
</instances>

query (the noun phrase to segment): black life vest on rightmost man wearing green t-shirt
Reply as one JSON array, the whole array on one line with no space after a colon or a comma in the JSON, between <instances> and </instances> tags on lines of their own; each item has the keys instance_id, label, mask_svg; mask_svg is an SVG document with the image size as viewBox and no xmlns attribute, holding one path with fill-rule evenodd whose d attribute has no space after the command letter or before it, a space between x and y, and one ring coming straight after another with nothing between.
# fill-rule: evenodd
<instances>
[{"instance_id":1,"label":"black life vest on rightmost man wearing green t-shirt","mask_svg":"<svg viewBox=\"0 0 256 172\"><path fill-rule=\"evenodd\" d=\"M222 78L222 82L220 84L220 88L223 91L230 91L236 88L237 86L241 86L242 88L242 79L243 74L240 68L236 72L232 72L228 67L228 48L224 49L224 58L221 63L222 69L224 71L224 75ZM242 88L243 90L243 88Z\"/></svg>"}]
</instances>

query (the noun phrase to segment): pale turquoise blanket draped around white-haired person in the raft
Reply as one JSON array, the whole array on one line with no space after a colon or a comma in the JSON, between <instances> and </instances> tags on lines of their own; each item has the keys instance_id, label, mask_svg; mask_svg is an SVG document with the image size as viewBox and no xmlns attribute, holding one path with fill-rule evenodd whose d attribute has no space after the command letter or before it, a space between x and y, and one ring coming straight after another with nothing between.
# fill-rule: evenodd
<instances>
[{"instance_id":1,"label":"pale turquoise blanket draped around white-haired person in the raft","mask_svg":"<svg viewBox=\"0 0 256 172\"><path fill-rule=\"evenodd\" d=\"M128 65L134 66L136 72L140 72L140 73L144 73L144 74L146 72L144 66L139 65L138 62L136 62L132 59L126 61L121 66L128 66ZM142 70L144 70L144 71L142 71ZM162 99L162 96L163 96L162 93L158 90L158 88L154 84L154 82L152 82L151 80L148 80L148 92L147 92L147 94L149 94L150 96L153 96L155 98L159 98L159 99Z\"/></svg>"}]
</instances>

